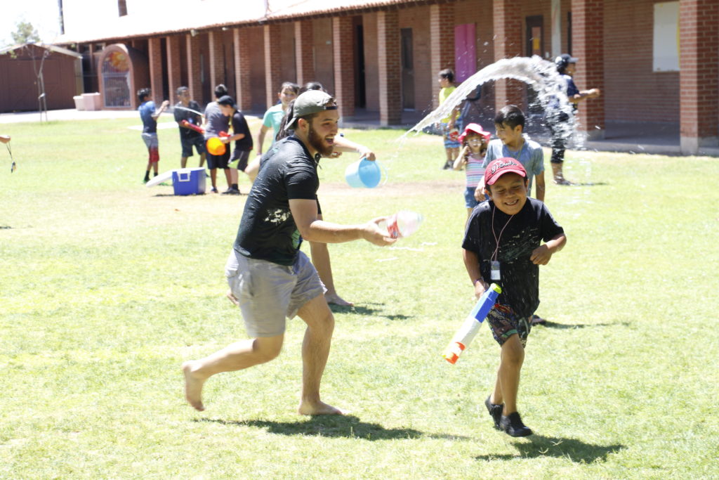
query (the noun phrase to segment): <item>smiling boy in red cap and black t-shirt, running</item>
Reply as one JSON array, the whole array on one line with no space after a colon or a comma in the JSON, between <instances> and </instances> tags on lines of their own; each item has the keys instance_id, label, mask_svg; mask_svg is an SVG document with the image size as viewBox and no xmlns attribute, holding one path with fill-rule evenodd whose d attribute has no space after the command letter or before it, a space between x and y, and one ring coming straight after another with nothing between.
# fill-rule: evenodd
<instances>
[{"instance_id":1,"label":"smiling boy in red cap and black t-shirt, running","mask_svg":"<svg viewBox=\"0 0 719 480\"><path fill-rule=\"evenodd\" d=\"M567 237L544 203L527 197L527 173L514 158L493 160L483 184L490 200L470 215L462 253L477 298L490 282L502 287L487 315L501 353L495 388L485 406L495 428L525 437L532 431L517 411L517 392L531 315L539 305L539 266L562 250Z\"/></svg>"}]
</instances>

